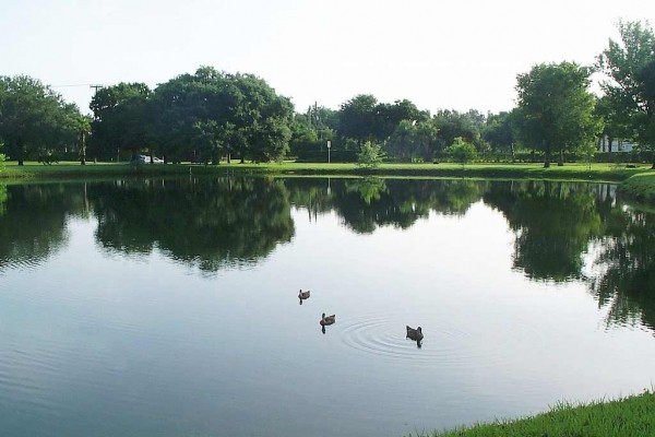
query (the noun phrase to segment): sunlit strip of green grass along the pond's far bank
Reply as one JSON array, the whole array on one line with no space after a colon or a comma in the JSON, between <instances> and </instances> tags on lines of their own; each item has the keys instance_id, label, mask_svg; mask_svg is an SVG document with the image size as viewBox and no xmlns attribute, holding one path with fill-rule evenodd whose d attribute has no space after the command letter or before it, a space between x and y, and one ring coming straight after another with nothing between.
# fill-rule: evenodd
<instances>
[{"instance_id":1,"label":"sunlit strip of green grass along the pond's far bank","mask_svg":"<svg viewBox=\"0 0 655 437\"><path fill-rule=\"evenodd\" d=\"M355 164L318 164L318 163L267 163L221 165L130 165L127 163L59 163L41 165L25 163L17 166L10 162L0 169L0 178L93 178L117 176L174 176L174 175L224 175L260 174L260 175L306 175L306 176L390 176L390 177L427 177L427 178L499 178L499 179L559 179L559 180L595 180L623 182L620 191L623 196L641 202L655 203L655 172L647 164L634 168L614 164L567 164L544 168L543 164L382 164L377 168L359 168Z\"/></svg>"}]
</instances>

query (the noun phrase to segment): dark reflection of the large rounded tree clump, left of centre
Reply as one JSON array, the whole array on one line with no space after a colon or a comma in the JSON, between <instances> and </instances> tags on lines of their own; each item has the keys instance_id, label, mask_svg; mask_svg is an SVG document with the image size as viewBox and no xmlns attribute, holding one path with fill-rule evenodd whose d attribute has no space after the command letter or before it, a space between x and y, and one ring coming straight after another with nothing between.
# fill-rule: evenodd
<instances>
[{"instance_id":1,"label":"dark reflection of the large rounded tree clump, left of centre","mask_svg":"<svg viewBox=\"0 0 655 437\"><path fill-rule=\"evenodd\" d=\"M155 247L203 271L252 264L294 235L284 184L218 178L103 184L92 194L103 247Z\"/></svg>"}]
</instances>

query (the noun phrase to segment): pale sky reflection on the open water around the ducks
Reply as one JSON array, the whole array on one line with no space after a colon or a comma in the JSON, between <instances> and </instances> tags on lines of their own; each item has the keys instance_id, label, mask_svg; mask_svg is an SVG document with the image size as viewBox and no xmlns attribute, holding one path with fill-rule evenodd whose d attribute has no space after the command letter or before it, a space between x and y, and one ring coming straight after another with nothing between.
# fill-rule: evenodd
<instances>
[{"instance_id":1,"label":"pale sky reflection on the open water around the ducks","mask_svg":"<svg viewBox=\"0 0 655 437\"><path fill-rule=\"evenodd\" d=\"M652 334L606 329L583 283L512 271L481 202L368 235L291 214L290 244L215 276L108 256L72 220L67 247L1 277L4 435L402 435L651 385Z\"/></svg>"}]
</instances>

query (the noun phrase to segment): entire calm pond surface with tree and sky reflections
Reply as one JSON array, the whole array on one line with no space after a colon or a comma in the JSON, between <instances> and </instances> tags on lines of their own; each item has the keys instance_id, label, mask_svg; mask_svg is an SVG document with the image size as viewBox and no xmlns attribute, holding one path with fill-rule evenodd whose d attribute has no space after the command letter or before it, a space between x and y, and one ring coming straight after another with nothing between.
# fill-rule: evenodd
<instances>
[{"instance_id":1,"label":"entire calm pond surface with tree and sky reflections","mask_svg":"<svg viewBox=\"0 0 655 437\"><path fill-rule=\"evenodd\" d=\"M1 434L401 436L640 392L654 244L608 185L0 186Z\"/></svg>"}]
</instances>

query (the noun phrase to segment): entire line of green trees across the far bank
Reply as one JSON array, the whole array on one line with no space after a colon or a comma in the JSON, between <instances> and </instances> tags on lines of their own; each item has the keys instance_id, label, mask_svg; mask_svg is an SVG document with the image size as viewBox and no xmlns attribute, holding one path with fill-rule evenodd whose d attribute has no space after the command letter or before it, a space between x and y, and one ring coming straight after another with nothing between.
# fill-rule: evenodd
<instances>
[{"instance_id":1,"label":"entire line of green trees across the far bank","mask_svg":"<svg viewBox=\"0 0 655 437\"><path fill-rule=\"evenodd\" d=\"M92 117L40 81L0 76L0 144L22 164L57 156L118 158L148 153L165 162L217 164L374 160L431 162L519 152L563 164L564 154L593 156L599 139L633 141L652 152L655 168L655 35L648 24L619 22L594 66L541 63L516 79L516 107L499 114L441 109L408 99L382 103L356 95L338 109L313 105L296 113L263 79L201 67L151 90L119 83L97 90ZM604 73L603 96L591 92Z\"/></svg>"}]
</instances>

